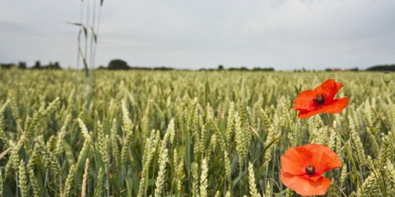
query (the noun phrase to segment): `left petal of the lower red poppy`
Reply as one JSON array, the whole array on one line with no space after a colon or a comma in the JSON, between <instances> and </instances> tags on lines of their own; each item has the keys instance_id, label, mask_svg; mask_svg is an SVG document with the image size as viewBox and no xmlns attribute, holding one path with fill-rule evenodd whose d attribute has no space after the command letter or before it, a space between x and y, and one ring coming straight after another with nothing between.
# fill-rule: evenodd
<instances>
[{"instance_id":1,"label":"left petal of the lower red poppy","mask_svg":"<svg viewBox=\"0 0 395 197\"><path fill-rule=\"evenodd\" d=\"M313 155L303 146L291 147L281 156L281 170L292 175L306 174L306 165L310 164Z\"/></svg>"}]
</instances>

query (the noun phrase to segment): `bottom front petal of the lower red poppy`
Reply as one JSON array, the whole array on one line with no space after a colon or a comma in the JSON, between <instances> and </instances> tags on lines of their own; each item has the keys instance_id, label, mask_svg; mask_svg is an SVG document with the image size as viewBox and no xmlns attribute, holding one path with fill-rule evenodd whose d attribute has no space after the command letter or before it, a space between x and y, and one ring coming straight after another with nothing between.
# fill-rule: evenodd
<instances>
[{"instance_id":1,"label":"bottom front petal of the lower red poppy","mask_svg":"<svg viewBox=\"0 0 395 197\"><path fill-rule=\"evenodd\" d=\"M313 181L305 179L301 176L295 176L284 172L281 169L280 173L281 182L288 188L295 191L301 196L314 196L324 195L330 185L330 180L326 177L321 176L318 180Z\"/></svg>"}]
</instances>

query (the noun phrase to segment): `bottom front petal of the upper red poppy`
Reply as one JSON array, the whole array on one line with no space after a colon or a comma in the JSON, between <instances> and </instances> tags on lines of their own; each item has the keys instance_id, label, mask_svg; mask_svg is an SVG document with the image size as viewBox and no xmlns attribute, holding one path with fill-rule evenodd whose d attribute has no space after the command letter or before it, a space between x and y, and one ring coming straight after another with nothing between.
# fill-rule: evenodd
<instances>
[{"instance_id":1,"label":"bottom front petal of the upper red poppy","mask_svg":"<svg viewBox=\"0 0 395 197\"><path fill-rule=\"evenodd\" d=\"M349 103L349 98L344 97L340 99L334 99L328 105L324 105L322 108L315 110L315 111L307 111L301 110L298 114L298 117L301 119L309 118L310 116L314 116L319 113L330 113L336 114L343 111L346 108L347 104Z\"/></svg>"}]
</instances>

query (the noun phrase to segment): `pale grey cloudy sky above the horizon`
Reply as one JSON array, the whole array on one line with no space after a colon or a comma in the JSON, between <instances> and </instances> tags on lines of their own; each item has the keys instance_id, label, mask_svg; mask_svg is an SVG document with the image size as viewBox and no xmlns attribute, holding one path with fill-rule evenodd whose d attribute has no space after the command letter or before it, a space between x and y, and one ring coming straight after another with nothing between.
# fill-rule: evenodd
<instances>
[{"instance_id":1,"label":"pale grey cloudy sky above the horizon","mask_svg":"<svg viewBox=\"0 0 395 197\"><path fill-rule=\"evenodd\" d=\"M79 22L80 6L1 0L0 63L75 67L79 29L66 22ZM104 0L95 66L117 58L192 69L394 64L394 10L395 0Z\"/></svg>"}]
</instances>

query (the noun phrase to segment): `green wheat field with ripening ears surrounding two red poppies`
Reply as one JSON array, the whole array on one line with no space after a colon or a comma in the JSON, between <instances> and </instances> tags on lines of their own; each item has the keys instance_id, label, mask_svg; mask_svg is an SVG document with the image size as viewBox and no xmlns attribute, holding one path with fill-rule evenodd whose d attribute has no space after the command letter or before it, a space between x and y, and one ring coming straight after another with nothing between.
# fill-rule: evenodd
<instances>
[{"instance_id":1,"label":"green wheat field with ripening ears surrounding two red poppies","mask_svg":"<svg viewBox=\"0 0 395 197\"><path fill-rule=\"evenodd\" d=\"M91 89L82 74L0 70L3 197L297 197L280 158L310 143L342 163L325 196L395 196L395 83L387 97L381 72L98 70ZM328 114L341 138L293 108L327 79L350 99Z\"/></svg>"}]
</instances>

